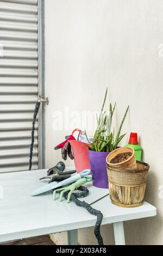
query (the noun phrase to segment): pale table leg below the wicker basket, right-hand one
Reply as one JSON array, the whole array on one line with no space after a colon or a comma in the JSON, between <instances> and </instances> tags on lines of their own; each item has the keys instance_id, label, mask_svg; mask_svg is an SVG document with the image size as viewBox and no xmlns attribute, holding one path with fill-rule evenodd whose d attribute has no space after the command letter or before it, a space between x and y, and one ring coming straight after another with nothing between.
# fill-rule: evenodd
<instances>
[{"instance_id":1,"label":"pale table leg below the wicker basket, right-hand one","mask_svg":"<svg viewBox=\"0 0 163 256\"><path fill-rule=\"evenodd\" d=\"M123 222L113 223L115 245L126 245Z\"/></svg>"}]
</instances>

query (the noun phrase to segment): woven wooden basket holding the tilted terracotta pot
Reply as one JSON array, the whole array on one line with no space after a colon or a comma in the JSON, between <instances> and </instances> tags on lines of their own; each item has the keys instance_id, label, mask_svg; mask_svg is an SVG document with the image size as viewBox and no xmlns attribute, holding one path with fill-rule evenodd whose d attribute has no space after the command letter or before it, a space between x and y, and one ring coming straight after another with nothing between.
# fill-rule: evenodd
<instances>
[{"instance_id":1,"label":"woven wooden basket holding the tilted terracotta pot","mask_svg":"<svg viewBox=\"0 0 163 256\"><path fill-rule=\"evenodd\" d=\"M143 204L148 179L149 165L137 161L136 170L108 170L109 192L111 202L122 207L137 207Z\"/></svg>"}]
</instances>

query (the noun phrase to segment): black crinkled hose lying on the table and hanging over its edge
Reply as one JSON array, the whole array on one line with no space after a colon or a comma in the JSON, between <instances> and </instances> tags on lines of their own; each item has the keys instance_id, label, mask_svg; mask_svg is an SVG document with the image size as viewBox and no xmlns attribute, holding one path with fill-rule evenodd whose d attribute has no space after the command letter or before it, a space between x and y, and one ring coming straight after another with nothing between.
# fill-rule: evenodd
<instances>
[{"instance_id":1,"label":"black crinkled hose lying on the table and hanging over its edge","mask_svg":"<svg viewBox=\"0 0 163 256\"><path fill-rule=\"evenodd\" d=\"M82 201L78 200L78 198L86 197L89 194L89 190L86 187L81 186L81 187L78 188L78 190L81 191L81 192L72 193L70 200L73 201L77 206L85 208L88 212L90 212L90 214L97 216L97 221L96 221L94 233L95 233L96 239L98 241L98 245L104 245L103 244L103 238L102 238L101 233L100 233L100 227L101 227L101 223L102 223L102 220L103 220L103 214L102 214L101 211L93 209L86 202L84 202L84 201L82 202ZM69 191L64 193L65 199L67 199L67 197L68 197L68 192Z\"/></svg>"}]
</instances>

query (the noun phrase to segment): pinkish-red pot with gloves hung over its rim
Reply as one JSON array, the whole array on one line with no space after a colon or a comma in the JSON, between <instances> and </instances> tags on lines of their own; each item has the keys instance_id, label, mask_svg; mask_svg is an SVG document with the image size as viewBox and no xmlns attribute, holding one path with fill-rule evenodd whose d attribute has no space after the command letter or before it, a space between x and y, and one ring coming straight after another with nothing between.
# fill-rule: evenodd
<instances>
[{"instance_id":1,"label":"pinkish-red pot with gloves hung over its rim","mask_svg":"<svg viewBox=\"0 0 163 256\"><path fill-rule=\"evenodd\" d=\"M69 141L71 144L71 148L74 156L74 165L76 167L77 173L82 172L85 169L90 168L88 148L85 147L86 144L80 141Z\"/></svg>"}]
</instances>

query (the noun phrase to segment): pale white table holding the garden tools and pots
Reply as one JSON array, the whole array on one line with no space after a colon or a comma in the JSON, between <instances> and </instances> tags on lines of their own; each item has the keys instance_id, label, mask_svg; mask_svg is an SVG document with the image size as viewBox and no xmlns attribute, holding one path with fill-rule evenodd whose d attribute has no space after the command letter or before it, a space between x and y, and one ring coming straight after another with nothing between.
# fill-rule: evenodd
<instances>
[{"instance_id":1,"label":"pale white table holding the garden tools and pots","mask_svg":"<svg viewBox=\"0 0 163 256\"><path fill-rule=\"evenodd\" d=\"M47 181L39 181L46 173L47 170L35 170L0 174L0 242L68 231L68 243L77 245L77 230L95 225L95 216L73 202L53 201L51 191L29 196L35 188L46 184ZM98 188L93 187L91 197L95 195L96 199L97 193ZM156 215L156 208L147 202L139 208L119 208L111 204L109 196L92 206L103 213L103 225L113 224L116 245L125 244L124 221Z\"/></svg>"}]
</instances>

